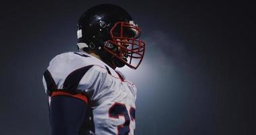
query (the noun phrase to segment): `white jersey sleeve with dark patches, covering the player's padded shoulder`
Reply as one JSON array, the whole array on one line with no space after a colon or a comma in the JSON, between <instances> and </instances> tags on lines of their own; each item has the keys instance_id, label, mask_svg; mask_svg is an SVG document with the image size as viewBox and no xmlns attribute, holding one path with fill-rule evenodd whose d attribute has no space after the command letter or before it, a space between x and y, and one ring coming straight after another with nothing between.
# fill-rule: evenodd
<instances>
[{"instance_id":1,"label":"white jersey sleeve with dark patches, covering the player's padded shoulder","mask_svg":"<svg viewBox=\"0 0 256 135\"><path fill-rule=\"evenodd\" d=\"M106 76L107 70L89 57L64 53L51 60L43 75L43 85L50 96L53 92L63 91L82 93L93 99L101 91Z\"/></svg>"}]
</instances>

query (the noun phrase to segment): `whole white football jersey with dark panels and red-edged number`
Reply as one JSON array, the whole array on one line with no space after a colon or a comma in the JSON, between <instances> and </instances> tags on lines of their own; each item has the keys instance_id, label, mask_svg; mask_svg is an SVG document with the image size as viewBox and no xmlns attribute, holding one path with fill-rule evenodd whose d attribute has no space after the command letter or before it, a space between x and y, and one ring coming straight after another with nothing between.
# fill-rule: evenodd
<instances>
[{"instance_id":1,"label":"whole white football jersey with dark panels and red-edged number","mask_svg":"<svg viewBox=\"0 0 256 135\"><path fill-rule=\"evenodd\" d=\"M43 76L45 91L81 92L88 98L82 134L134 134L136 86L88 53L54 57ZM50 98L51 99L51 98Z\"/></svg>"}]
</instances>

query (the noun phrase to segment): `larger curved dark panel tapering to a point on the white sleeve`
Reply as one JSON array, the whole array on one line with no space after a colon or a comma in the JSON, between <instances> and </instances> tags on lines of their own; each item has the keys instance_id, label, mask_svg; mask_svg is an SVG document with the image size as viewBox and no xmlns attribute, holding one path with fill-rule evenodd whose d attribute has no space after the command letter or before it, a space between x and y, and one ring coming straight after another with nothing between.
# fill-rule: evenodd
<instances>
[{"instance_id":1,"label":"larger curved dark panel tapering to a point on the white sleeve","mask_svg":"<svg viewBox=\"0 0 256 135\"><path fill-rule=\"evenodd\" d=\"M63 89L68 90L71 93L76 92L76 88L88 70L92 68L93 65L88 65L86 67L80 68L78 70L75 70L74 72L70 73L66 80L63 83Z\"/></svg>"}]
</instances>

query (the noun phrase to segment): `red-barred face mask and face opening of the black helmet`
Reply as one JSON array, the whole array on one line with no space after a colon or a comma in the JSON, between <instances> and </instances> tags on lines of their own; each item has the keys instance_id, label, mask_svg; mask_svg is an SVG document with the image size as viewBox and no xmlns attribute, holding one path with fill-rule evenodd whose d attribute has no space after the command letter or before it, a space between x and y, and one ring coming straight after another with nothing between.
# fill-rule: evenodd
<instances>
[{"instance_id":1,"label":"red-barred face mask and face opening of the black helmet","mask_svg":"<svg viewBox=\"0 0 256 135\"><path fill-rule=\"evenodd\" d=\"M128 67L138 68L145 54L145 43L138 39L140 28L133 21L116 22L109 34L111 39L104 49Z\"/></svg>"}]
</instances>

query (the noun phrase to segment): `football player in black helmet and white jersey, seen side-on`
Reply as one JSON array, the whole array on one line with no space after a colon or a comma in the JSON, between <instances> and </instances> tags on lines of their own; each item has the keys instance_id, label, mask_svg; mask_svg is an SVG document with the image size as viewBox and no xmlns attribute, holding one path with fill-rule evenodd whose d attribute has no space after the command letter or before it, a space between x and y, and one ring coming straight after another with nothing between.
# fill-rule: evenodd
<instances>
[{"instance_id":1,"label":"football player in black helmet and white jersey, seen side-on","mask_svg":"<svg viewBox=\"0 0 256 135\"><path fill-rule=\"evenodd\" d=\"M57 55L43 74L51 134L134 134L136 87L115 69L140 65L140 28L122 7L102 4L82 14L77 35L79 51Z\"/></svg>"}]
</instances>

